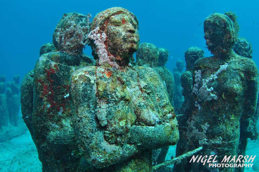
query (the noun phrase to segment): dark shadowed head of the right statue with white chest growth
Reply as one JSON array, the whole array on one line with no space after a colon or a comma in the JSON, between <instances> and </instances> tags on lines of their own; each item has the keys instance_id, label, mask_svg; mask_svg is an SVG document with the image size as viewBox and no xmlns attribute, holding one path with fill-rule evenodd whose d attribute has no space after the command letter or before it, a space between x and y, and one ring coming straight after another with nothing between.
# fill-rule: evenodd
<instances>
[{"instance_id":1,"label":"dark shadowed head of the right statue with white chest growth","mask_svg":"<svg viewBox=\"0 0 259 172\"><path fill-rule=\"evenodd\" d=\"M203 24L206 45L212 54L224 55L232 50L238 28L231 18L224 14L213 13L205 19Z\"/></svg>"}]
</instances>

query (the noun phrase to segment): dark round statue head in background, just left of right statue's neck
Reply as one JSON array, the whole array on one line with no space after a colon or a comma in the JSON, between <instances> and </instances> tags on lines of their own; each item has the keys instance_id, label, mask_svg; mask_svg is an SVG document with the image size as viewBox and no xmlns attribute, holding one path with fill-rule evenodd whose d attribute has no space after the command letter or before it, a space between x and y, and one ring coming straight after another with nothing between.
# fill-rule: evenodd
<instances>
[{"instance_id":1,"label":"dark round statue head in background, just left of right statue's neck","mask_svg":"<svg viewBox=\"0 0 259 172\"><path fill-rule=\"evenodd\" d=\"M204 57L204 51L200 49L199 47L190 47L187 49L187 51L184 53L184 58L186 62L186 70L192 71L193 64L195 61L199 58Z\"/></svg>"}]
</instances>

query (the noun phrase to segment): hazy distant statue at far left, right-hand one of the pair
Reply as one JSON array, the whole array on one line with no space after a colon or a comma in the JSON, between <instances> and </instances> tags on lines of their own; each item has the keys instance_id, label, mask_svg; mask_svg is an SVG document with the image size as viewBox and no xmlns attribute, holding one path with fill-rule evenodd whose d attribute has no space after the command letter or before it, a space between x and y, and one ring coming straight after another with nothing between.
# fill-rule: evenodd
<instances>
[{"instance_id":1,"label":"hazy distant statue at far left, right-hand one of the pair","mask_svg":"<svg viewBox=\"0 0 259 172\"><path fill-rule=\"evenodd\" d=\"M9 81L6 83L6 101L9 113L10 122L17 126L18 125L18 114L20 111L20 99L19 99L19 92L20 86L19 81L20 76L15 75L13 76L13 81Z\"/></svg>"}]
</instances>

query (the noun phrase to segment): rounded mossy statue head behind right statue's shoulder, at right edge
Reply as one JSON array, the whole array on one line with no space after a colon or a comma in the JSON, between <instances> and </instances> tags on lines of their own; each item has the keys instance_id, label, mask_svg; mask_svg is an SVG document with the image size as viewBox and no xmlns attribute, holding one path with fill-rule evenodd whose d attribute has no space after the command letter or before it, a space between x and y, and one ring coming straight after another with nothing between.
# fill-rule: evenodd
<instances>
[{"instance_id":1,"label":"rounded mossy statue head behind right statue's shoulder, at right edge","mask_svg":"<svg viewBox=\"0 0 259 172\"><path fill-rule=\"evenodd\" d=\"M238 55L252 58L253 48L251 43L246 38L237 38L233 46L233 50Z\"/></svg>"}]
</instances>

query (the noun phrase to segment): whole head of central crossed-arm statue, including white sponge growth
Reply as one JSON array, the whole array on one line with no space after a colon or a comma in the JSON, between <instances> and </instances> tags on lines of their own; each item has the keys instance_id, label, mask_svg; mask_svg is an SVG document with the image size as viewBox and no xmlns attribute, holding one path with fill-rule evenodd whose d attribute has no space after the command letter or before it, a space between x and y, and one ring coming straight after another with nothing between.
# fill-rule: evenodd
<instances>
[{"instance_id":1,"label":"whole head of central crossed-arm statue, including white sponge growth","mask_svg":"<svg viewBox=\"0 0 259 172\"><path fill-rule=\"evenodd\" d=\"M90 30L92 54L99 59L99 65L108 62L116 67L125 66L138 49L138 19L127 9L113 7L99 12L93 18Z\"/></svg>"}]
</instances>

